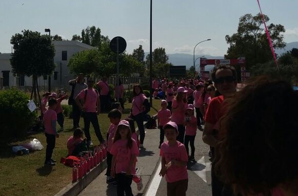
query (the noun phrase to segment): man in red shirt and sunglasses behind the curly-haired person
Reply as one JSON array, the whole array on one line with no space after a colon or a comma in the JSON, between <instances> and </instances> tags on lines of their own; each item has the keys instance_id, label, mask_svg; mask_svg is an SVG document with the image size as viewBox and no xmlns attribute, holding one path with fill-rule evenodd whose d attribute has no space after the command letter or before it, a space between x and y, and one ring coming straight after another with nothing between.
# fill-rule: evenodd
<instances>
[{"instance_id":1,"label":"man in red shirt and sunglasses behind the curly-haired person","mask_svg":"<svg viewBox=\"0 0 298 196\"><path fill-rule=\"evenodd\" d=\"M237 75L233 67L221 65L216 66L212 72L212 80L216 89L222 94L221 96L213 98L208 106L205 115L205 127L203 132L203 141L215 147L220 141L218 138L218 132L220 132L220 119L227 111L224 100L227 97L233 96L236 92ZM214 134L215 133L215 134ZM223 183L214 175L212 162L211 168L211 185L212 185L212 196L222 196L222 192L225 192ZM233 195L230 191L227 191L225 195Z\"/></svg>"}]
</instances>

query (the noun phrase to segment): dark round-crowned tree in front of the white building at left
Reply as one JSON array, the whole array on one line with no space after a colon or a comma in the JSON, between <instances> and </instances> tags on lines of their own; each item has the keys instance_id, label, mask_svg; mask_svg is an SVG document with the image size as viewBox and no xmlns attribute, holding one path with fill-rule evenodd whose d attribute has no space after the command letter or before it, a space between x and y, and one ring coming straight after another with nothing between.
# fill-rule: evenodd
<instances>
[{"instance_id":1,"label":"dark round-crowned tree in front of the white building at left","mask_svg":"<svg viewBox=\"0 0 298 196\"><path fill-rule=\"evenodd\" d=\"M55 49L48 35L41 35L39 32L23 30L23 34L15 34L11 37L10 43L13 45L13 54L10 59L12 72L14 74L25 74L33 76L33 88L31 99L36 90L39 96L37 77L49 75L55 69L54 56Z\"/></svg>"}]
</instances>

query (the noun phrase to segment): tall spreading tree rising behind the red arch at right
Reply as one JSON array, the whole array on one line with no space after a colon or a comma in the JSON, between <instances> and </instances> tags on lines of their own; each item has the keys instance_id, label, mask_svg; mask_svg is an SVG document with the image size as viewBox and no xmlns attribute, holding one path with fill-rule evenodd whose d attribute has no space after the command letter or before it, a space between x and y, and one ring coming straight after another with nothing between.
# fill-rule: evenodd
<instances>
[{"instance_id":1,"label":"tall spreading tree rising behind the red arch at right","mask_svg":"<svg viewBox=\"0 0 298 196\"><path fill-rule=\"evenodd\" d=\"M265 21L269 21L269 17L264 15ZM226 41L229 45L225 58L245 57L247 68L257 63L265 63L272 60L271 49L267 40L266 32L263 26L262 15L259 13L255 16L245 14L240 17L237 33L226 35ZM282 25L270 24L268 31L275 49L284 48L285 42L282 33L285 28Z\"/></svg>"}]
</instances>

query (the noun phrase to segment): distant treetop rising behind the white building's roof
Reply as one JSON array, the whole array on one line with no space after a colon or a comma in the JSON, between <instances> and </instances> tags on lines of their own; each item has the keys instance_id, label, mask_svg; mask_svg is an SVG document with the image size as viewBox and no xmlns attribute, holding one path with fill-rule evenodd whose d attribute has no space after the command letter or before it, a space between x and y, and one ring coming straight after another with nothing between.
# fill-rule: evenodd
<instances>
[{"instance_id":1,"label":"distant treetop rising behind the white building's roof","mask_svg":"<svg viewBox=\"0 0 298 196\"><path fill-rule=\"evenodd\" d=\"M101 42L102 38L107 38L103 37L101 35L101 29L96 28L95 26L92 27L87 27L86 29L83 29L80 35L73 35L71 40L76 40L76 41L82 41L83 43L86 43L90 46L100 48L101 47Z\"/></svg>"}]
</instances>

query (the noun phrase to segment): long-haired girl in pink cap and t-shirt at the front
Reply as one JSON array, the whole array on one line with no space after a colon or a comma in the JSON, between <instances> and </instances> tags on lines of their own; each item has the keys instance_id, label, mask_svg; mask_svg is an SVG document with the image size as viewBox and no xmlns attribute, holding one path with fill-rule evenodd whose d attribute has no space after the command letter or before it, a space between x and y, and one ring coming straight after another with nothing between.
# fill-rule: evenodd
<instances>
[{"instance_id":1,"label":"long-haired girl in pink cap and t-shirt at the front","mask_svg":"<svg viewBox=\"0 0 298 196\"><path fill-rule=\"evenodd\" d=\"M136 142L131 138L129 122L120 121L118 124L113 146L110 153L112 158L111 176L116 177L117 195L133 196L131 183L135 175L135 160L139 154Z\"/></svg>"}]
</instances>

